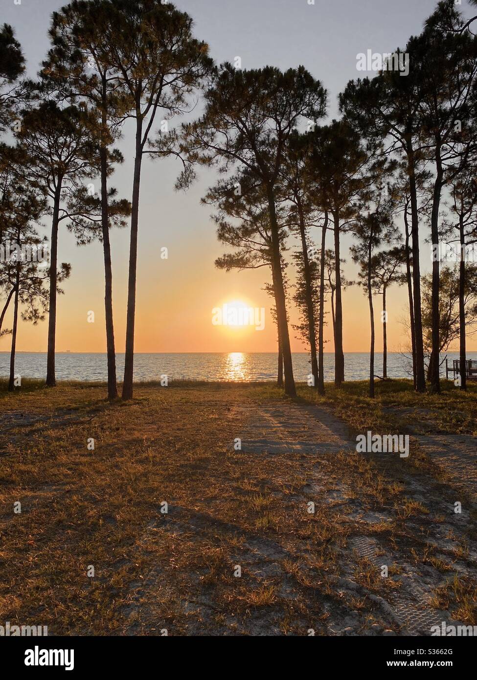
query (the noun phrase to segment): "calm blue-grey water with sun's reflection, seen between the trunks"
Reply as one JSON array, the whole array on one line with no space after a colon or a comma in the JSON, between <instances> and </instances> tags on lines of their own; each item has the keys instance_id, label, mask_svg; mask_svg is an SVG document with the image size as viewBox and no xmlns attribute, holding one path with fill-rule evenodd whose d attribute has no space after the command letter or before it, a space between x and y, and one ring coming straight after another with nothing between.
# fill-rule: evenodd
<instances>
[{"instance_id":1,"label":"calm blue-grey water with sun's reflection, seen between the trunks","mask_svg":"<svg viewBox=\"0 0 477 680\"><path fill-rule=\"evenodd\" d=\"M116 358L118 379L124 371L124 354ZM458 359L457 353L449 353L449 364ZM477 352L469 352L468 359L477 359ZM334 377L334 354L325 354L325 380ZM0 352L0 376L9 373L10 356ZM135 380L157 380L161 375L169 379L188 378L198 380L267 381L276 379L277 356L270 353L233 352L231 354L136 354L134 358ZM401 354L388 354L389 377L410 377L409 362ZM442 369L444 370L444 369ZM306 381L310 373L308 354L293 354L295 379ZM16 373L23 377L46 376L46 354L19 352L16 356ZM376 354L375 373L382 375L382 354ZM445 373L445 370L444 370ZM105 354L56 354L56 378L59 380L107 379ZM350 352L345 354L346 380L367 379L369 354Z\"/></svg>"}]
</instances>

